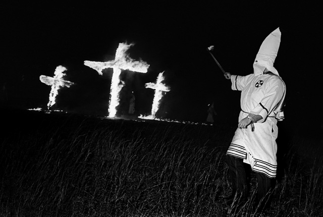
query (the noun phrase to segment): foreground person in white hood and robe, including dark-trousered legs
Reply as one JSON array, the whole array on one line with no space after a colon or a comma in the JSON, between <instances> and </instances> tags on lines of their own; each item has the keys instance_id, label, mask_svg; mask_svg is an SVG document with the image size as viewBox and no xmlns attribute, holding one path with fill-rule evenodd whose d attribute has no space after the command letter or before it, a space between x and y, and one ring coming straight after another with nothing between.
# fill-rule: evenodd
<instances>
[{"instance_id":1,"label":"foreground person in white hood and robe, including dark-trousered legs","mask_svg":"<svg viewBox=\"0 0 323 217\"><path fill-rule=\"evenodd\" d=\"M241 91L239 124L227 151L233 188L232 195L226 198L227 203L232 203L235 194L240 194L243 200L248 197L245 165L250 165L258 182L255 202L261 209L270 206L268 192L277 174L277 121L284 119L286 94L285 83L274 67L280 41L279 28L265 38L253 63L253 74L225 74L231 79L231 88Z\"/></svg>"}]
</instances>

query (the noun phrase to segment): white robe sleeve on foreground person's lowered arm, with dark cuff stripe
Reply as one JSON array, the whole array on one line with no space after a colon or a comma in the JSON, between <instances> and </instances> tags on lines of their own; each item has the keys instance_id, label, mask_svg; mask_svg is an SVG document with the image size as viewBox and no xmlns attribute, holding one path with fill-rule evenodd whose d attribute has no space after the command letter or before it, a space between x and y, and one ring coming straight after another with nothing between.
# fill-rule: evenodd
<instances>
[{"instance_id":1,"label":"white robe sleeve on foreground person's lowered arm, with dark cuff stripe","mask_svg":"<svg viewBox=\"0 0 323 217\"><path fill-rule=\"evenodd\" d=\"M285 85L279 78L273 78L266 88L265 94L257 106L250 112L254 115L260 115L263 119L258 123L263 123L266 117L271 114L283 97Z\"/></svg>"}]
</instances>

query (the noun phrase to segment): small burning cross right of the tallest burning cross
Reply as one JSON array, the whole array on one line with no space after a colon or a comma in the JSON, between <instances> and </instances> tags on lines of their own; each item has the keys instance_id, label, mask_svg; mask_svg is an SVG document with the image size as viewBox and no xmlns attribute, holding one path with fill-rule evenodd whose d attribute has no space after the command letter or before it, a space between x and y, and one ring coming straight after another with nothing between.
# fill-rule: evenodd
<instances>
[{"instance_id":1,"label":"small burning cross right of the tallest burning cross","mask_svg":"<svg viewBox=\"0 0 323 217\"><path fill-rule=\"evenodd\" d=\"M155 94L153 96L153 101L152 101L152 107L151 107L151 116L154 119L155 118L155 114L158 111L158 107L159 107L159 101L161 98L163 98L163 91L170 91L171 89L166 86L163 82L164 82L164 72L159 73L156 83L146 83L145 87L146 88L151 88L151 89L155 89Z\"/></svg>"}]
</instances>

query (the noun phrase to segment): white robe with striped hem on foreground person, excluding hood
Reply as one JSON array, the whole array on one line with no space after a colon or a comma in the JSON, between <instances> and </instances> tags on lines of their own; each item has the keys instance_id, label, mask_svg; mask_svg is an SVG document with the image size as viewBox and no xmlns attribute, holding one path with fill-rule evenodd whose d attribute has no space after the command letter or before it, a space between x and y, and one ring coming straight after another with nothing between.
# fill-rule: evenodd
<instances>
[{"instance_id":1,"label":"white robe with striped hem on foreground person, excluding hood","mask_svg":"<svg viewBox=\"0 0 323 217\"><path fill-rule=\"evenodd\" d=\"M277 75L231 76L232 89L241 92L239 122L249 113L263 117L246 129L237 129L227 154L243 158L255 172L270 178L277 172L277 114L274 109L284 96L285 84Z\"/></svg>"}]
</instances>

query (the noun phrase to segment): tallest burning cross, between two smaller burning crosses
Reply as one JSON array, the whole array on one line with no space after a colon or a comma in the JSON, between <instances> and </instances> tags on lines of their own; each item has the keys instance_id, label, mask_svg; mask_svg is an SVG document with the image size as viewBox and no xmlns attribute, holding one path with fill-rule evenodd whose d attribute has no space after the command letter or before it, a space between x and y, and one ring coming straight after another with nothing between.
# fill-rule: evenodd
<instances>
[{"instance_id":1,"label":"tallest burning cross, between two smaller burning crosses","mask_svg":"<svg viewBox=\"0 0 323 217\"><path fill-rule=\"evenodd\" d=\"M133 44L119 43L116 51L116 57L113 61L107 62L94 62L84 61L84 65L95 69L100 75L102 70L107 68L113 69L111 88L110 88L110 101L109 101L109 117L113 118L117 114L117 106L119 105L119 95L124 82L120 81L121 70L129 70L132 72L146 73L149 65L142 61L132 60L126 51Z\"/></svg>"}]
</instances>

